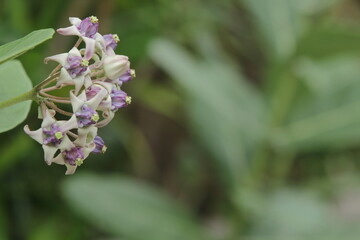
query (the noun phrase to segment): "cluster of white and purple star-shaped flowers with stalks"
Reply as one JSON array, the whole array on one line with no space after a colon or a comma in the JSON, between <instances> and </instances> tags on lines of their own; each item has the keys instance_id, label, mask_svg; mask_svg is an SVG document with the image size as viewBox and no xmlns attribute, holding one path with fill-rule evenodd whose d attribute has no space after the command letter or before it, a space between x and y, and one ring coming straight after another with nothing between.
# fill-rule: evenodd
<instances>
[{"instance_id":1,"label":"cluster of white and purple star-shaped flowers with stalks","mask_svg":"<svg viewBox=\"0 0 360 240\"><path fill-rule=\"evenodd\" d=\"M73 174L90 153L106 151L104 140L97 135L98 128L106 126L118 109L131 103L121 86L135 77L135 71L130 69L127 56L115 54L119 37L98 33L96 17L69 20L71 26L57 32L78 36L79 40L68 53L45 59L45 63L55 61L59 65L38 91L43 122L36 131L27 125L24 130L42 145L47 164L65 165L66 174ZM81 49L82 43L85 47ZM67 89L67 96L52 94L61 88ZM56 113L69 118L59 121Z\"/></svg>"}]
</instances>

